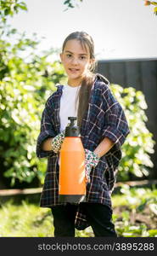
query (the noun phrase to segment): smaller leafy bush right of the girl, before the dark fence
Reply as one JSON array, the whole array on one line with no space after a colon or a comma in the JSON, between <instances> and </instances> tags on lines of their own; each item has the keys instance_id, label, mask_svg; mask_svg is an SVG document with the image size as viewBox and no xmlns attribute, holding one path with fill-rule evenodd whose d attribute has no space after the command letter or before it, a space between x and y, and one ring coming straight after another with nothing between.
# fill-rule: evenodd
<instances>
[{"instance_id":1,"label":"smaller leafy bush right of the girl, before the dark fence","mask_svg":"<svg viewBox=\"0 0 157 256\"><path fill-rule=\"evenodd\" d=\"M147 128L148 118L144 112L147 104L143 92L132 87L122 88L119 84L111 84L111 90L126 113L131 131L122 146L118 179L147 177L154 166L149 155L154 153L154 140Z\"/></svg>"}]
</instances>

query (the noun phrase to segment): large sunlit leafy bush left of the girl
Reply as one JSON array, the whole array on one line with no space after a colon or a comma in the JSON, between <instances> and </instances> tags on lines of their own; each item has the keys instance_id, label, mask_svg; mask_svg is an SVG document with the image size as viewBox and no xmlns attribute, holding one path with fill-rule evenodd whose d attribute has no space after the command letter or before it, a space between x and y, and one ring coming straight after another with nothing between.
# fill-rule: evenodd
<instances>
[{"instance_id":1,"label":"large sunlit leafy bush left of the girl","mask_svg":"<svg viewBox=\"0 0 157 256\"><path fill-rule=\"evenodd\" d=\"M15 179L43 179L45 160L36 158L36 137L44 104L54 84L64 79L59 62L48 61L51 52L35 55L36 44L24 35L14 45L0 40L0 158L12 185ZM22 51L29 51L28 58L20 56Z\"/></svg>"}]
</instances>

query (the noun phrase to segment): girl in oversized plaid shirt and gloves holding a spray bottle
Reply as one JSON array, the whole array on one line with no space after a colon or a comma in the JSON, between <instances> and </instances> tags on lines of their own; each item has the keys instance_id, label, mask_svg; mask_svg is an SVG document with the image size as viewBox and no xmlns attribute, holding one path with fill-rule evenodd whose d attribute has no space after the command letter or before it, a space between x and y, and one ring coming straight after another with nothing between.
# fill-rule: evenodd
<instances>
[{"instance_id":1,"label":"girl in oversized plaid shirt and gloves holding a spray bottle","mask_svg":"<svg viewBox=\"0 0 157 256\"><path fill-rule=\"evenodd\" d=\"M67 85L58 85L42 113L36 155L48 157L41 207L53 213L54 236L75 236L91 225L94 236L116 236L111 192L129 133L125 113L109 90L109 81L93 73L93 38L73 32L64 40L61 61ZM79 204L59 202L59 150L69 116L77 116L86 154L87 195Z\"/></svg>"}]
</instances>

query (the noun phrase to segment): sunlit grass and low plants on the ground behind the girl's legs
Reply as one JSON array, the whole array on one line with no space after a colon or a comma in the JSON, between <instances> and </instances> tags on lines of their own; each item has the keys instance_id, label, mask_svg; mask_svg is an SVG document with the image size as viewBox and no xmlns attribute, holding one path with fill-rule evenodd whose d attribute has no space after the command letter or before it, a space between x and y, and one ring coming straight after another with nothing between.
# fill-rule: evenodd
<instances>
[{"instance_id":1,"label":"sunlit grass and low plants on the ground behind the girl's legs","mask_svg":"<svg viewBox=\"0 0 157 256\"><path fill-rule=\"evenodd\" d=\"M118 236L157 237L157 189L121 188L113 195L113 221ZM0 207L0 236L52 237L53 217L50 209L38 203L7 201ZM76 230L76 236L93 236L91 227Z\"/></svg>"}]
</instances>

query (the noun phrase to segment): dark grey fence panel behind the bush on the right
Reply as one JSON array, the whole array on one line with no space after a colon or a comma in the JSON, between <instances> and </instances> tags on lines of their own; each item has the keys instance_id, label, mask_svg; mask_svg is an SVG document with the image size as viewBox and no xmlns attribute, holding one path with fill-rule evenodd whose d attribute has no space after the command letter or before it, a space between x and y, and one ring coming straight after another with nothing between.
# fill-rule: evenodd
<instances>
[{"instance_id":1,"label":"dark grey fence panel behind the bush on the right","mask_svg":"<svg viewBox=\"0 0 157 256\"><path fill-rule=\"evenodd\" d=\"M157 58L98 61L98 73L104 74L110 83L143 91L148 105L147 127L156 142L151 160L157 177Z\"/></svg>"}]
</instances>

